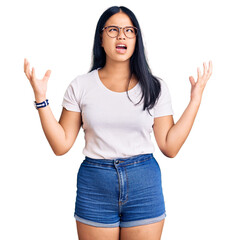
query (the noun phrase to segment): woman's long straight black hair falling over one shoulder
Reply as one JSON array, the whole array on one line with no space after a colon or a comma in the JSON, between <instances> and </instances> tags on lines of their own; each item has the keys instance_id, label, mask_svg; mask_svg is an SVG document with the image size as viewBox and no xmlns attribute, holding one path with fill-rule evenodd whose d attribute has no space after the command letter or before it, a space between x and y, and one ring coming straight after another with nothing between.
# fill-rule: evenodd
<instances>
[{"instance_id":1,"label":"woman's long straight black hair falling over one shoulder","mask_svg":"<svg viewBox=\"0 0 236 240\"><path fill-rule=\"evenodd\" d=\"M147 109L149 112L149 110L153 108L153 106L155 105L156 101L159 98L161 92L161 84L159 80L162 79L153 76L151 73L151 69L148 66L147 59L145 56L141 29L137 18L130 9L124 6L120 7L113 6L108 8L99 18L95 31L92 64L89 72L97 68L102 68L106 64L106 53L104 51L104 48L101 46L102 28L105 26L106 21L112 15L118 12L126 13L129 16L130 20L132 21L133 25L138 28L134 53L130 58L130 73L131 76L132 74L135 74L138 78L138 81L142 89L142 96L140 101L144 97L143 110ZM128 89L126 92L128 93ZM139 104L140 101L137 104Z\"/></svg>"}]
</instances>

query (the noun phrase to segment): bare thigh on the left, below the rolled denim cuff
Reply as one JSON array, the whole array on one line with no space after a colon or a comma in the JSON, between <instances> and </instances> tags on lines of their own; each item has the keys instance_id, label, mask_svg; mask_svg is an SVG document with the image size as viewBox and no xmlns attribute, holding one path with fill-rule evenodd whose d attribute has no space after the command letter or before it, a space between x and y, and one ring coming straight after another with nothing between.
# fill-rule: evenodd
<instances>
[{"instance_id":1,"label":"bare thigh on the left, below the rolled denim cuff","mask_svg":"<svg viewBox=\"0 0 236 240\"><path fill-rule=\"evenodd\" d=\"M76 221L79 240L119 240L120 227L94 227Z\"/></svg>"}]
</instances>

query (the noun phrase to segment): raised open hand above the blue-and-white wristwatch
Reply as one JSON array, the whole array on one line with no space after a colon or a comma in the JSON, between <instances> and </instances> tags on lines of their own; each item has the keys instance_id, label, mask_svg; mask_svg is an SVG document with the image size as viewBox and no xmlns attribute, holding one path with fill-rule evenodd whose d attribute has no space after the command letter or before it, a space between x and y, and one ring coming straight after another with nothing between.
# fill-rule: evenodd
<instances>
[{"instance_id":1,"label":"raised open hand above the blue-and-white wristwatch","mask_svg":"<svg viewBox=\"0 0 236 240\"><path fill-rule=\"evenodd\" d=\"M33 88L35 101L36 102L43 102L46 99L46 92L47 92L47 83L48 79L51 74L51 70L47 70L44 77L40 80L36 78L35 69L32 68L30 72L30 64L27 59L24 59L24 72L26 77L29 79L29 82Z\"/></svg>"}]
</instances>

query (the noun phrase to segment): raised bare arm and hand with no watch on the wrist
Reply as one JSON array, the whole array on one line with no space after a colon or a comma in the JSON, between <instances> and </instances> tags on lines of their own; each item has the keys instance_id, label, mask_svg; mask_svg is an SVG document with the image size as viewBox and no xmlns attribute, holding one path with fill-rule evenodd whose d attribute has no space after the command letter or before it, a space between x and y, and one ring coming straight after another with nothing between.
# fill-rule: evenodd
<instances>
[{"instance_id":1,"label":"raised bare arm and hand with no watch on the wrist","mask_svg":"<svg viewBox=\"0 0 236 240\"><path fill-rule=\"evenodd\" d=\"M172 115L154 118L154 136L160 150L167 157L173 158L177 155L193 126L201 104L203 90L212 74L212 62L209 62L208 70L204 63L203 69L203 75L201 75L200 68L198 68L197 82L192 76L189 77L191 99L180 119L174 123Z\"/></svg>"}]
</instances>

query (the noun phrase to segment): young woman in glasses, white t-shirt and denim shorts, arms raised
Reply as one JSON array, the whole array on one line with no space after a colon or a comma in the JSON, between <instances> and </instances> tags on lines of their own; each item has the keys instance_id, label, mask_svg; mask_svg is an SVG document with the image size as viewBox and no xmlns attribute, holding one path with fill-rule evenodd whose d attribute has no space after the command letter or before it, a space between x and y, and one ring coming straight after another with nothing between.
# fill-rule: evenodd
<instances>
[{"instance_id":1,"label":"young woman in glasses, white t-shirt and denim shorts, arms raised","mask_svg":"<svg viewBox=\"0 0 236 240\"><path fill-rule=\"evenodd\" d=\"M166 83L152 75L139 23L128 8L111 7L100 17L91 70L68 86L59 122L46 101L48 70L37 79L24 61L44 133L56 155L85 133L77 175L75 219L80 240L160 239L166 217L156 142L175 157L185 142L212 74L210 61L198 79L189 77L190 102L174 123Z\"/></svg>"}]
</instances>

